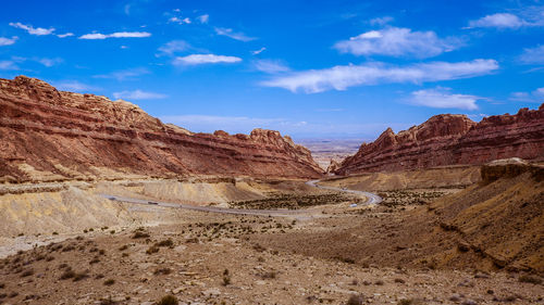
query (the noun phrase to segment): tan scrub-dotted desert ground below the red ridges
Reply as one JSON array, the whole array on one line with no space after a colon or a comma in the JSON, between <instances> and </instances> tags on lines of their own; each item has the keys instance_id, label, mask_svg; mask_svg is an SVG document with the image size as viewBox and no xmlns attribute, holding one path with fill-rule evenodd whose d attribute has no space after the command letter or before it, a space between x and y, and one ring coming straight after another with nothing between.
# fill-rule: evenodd
<instances>
[{"instance_id":1,"label":"tan scrub-dotted desert ground below the red ridges","mask_svg":"<svg viewBox=\"0 0 544 305\"><path fill-rule=\"evenodd\" d=\"M523 228L532 237L521 238L522 250L500 266L496 257L507 245L444 225L483 216L441 213L450 201L489 202L506 190L534 214L543 182L527 174L483 186L474 173L435 168L382 174L372 179L379 185L368 175L320 182L373 191L383 198L379 205L304 180L4 188L0 303L170 304L161 302L174 296L181 304L542 304L542 239L534 238L542 237L542 215L516 216L536 223ZM103 194L285 213L230 215ZM58 206L44 207L48 202Z\"/></svg>"}]
</instances>

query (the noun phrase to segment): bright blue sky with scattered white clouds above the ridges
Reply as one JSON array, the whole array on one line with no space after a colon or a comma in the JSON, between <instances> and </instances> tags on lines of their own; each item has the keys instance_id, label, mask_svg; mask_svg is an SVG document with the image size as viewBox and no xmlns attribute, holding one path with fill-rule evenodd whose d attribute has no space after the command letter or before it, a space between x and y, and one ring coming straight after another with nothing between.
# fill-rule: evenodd
<instances>
[{"instance_id":1,"label":"bright blue sky with scattered white clouds above the ridges","mask_svg":"<svg viewBox=\"0 0 544 305\"><path fill-rule=\"evenodd\" d=\"M10 1L0 77L193 131L373 139L544 101L540 1Z\"/></svg>"}]
</instances>

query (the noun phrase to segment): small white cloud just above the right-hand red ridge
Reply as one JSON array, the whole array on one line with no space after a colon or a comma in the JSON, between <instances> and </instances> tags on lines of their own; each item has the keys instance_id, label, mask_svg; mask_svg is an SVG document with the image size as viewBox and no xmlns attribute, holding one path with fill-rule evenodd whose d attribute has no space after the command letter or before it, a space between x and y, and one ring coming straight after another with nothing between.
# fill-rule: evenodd
<instances>
[{"instance_id":1,"label":"small white cloud just above the right-hand red ridge","mask_svg":"<svg viewBox=\"0 0 544 305\"><path fill-rule=\"evenodd\" d=\"M435 109L462 109L477 110L477 101L482 98L467 94L453 94L447 88L435 88L418 90L411 92L409 103L415 105L435 107Z\"/></svg>"}]
</instances>

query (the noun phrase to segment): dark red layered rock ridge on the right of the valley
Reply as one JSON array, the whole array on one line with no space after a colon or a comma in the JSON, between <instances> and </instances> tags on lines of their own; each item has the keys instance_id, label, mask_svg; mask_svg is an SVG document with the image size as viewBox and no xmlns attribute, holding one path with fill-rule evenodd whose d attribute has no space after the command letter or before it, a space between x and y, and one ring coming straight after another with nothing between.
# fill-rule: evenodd
<instances>
[{"instance_id":1,"label":"dark red layered rock ridge on the right of the valley","mask_svg":"<svg viewBox=\"0 0 544 305\"><path fill-rule=\"evenodd\" d=\"M363 143L333 173L349 175L444 165L483 164L507 157L544 157L544 104L516 115L495 115L480 123L465 115L441 114L395 135L391 128Z\"/></svg>"}]
</instances>

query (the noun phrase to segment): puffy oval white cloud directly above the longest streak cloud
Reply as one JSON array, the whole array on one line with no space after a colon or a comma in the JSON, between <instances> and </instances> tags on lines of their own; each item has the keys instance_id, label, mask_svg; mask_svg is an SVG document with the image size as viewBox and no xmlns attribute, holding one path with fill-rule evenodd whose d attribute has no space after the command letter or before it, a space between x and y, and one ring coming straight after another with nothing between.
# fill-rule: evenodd
<instances>
[{"instance_id":1,"label":"puffy oval white cloud directly above the longest streak cloud","mask_svg":"<svg viewBox=\"0 0 544 305\"><path fill-rule=\"evenodd\" d=\"M441 39L432 30L412 31L409 28L390 27L370 30L349 40L334 45L343 53L355 55L388 55L431 58L459 48L459 39Z\"/></svg>"}]
</instances>

